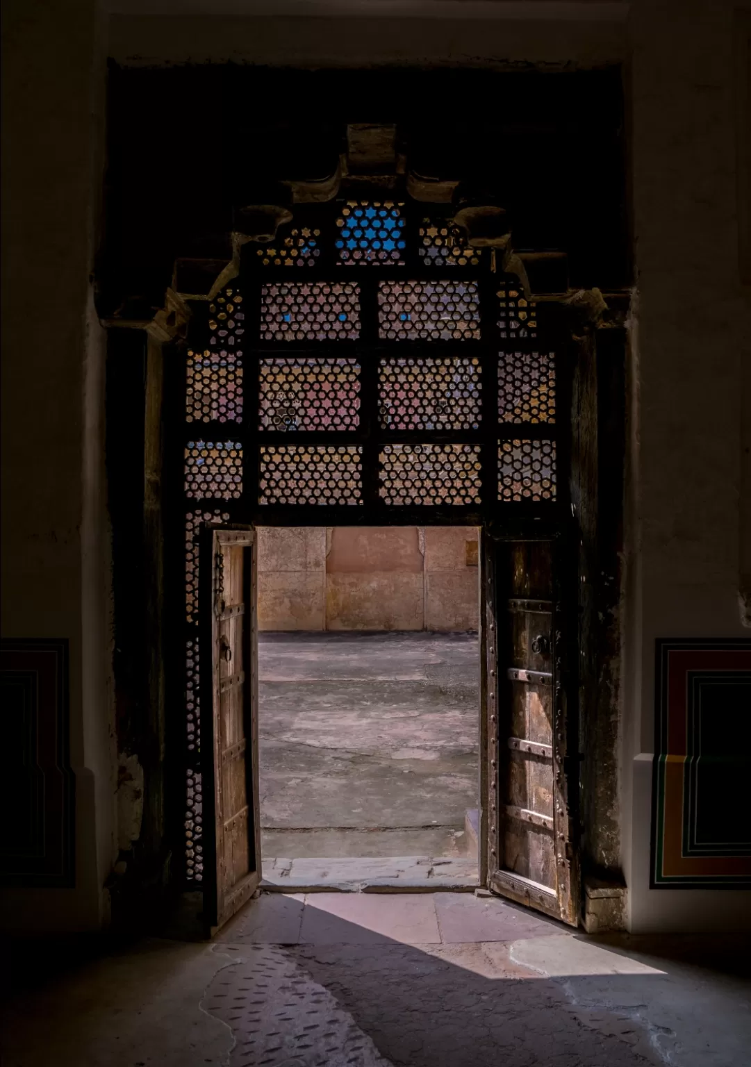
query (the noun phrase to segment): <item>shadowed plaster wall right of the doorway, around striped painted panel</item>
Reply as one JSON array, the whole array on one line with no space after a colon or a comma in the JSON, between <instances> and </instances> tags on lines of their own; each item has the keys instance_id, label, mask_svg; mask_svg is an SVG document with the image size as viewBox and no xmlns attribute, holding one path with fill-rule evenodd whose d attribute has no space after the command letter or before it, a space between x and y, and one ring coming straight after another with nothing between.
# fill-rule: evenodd
<instances>
[{"instance_id":1,"label":"shadowed plaster wall right of the doorway, around striped painted panel","mask_svg":"<svg viewBox=\"0 0 751 1067\"><path fill-rule=\"evenodd\" d=\"M658 637L748 637L738 593L751 453L751 288L738 181L751 71L732 0L630 5L632 448L622 826L632 929L751 927L751 893L650 890ZM747 22L748 26L748 22ZM739 47L740 46L740 47ZM746 474L744 474L746 468ZM744 537L749 529L745 527Z\"/></svg>"}]
</instances>

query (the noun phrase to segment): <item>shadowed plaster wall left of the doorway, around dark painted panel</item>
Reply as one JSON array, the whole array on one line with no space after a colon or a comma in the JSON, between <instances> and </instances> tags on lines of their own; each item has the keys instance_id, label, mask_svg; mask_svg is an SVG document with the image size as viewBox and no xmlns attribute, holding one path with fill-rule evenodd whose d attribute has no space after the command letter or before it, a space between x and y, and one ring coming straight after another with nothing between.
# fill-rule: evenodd
<instances>
[{"instance_id":1,"label":"shadowed plaster wall left of the doorway, around dark painted panel","mask_svg":"<svg viewBox=\"0 0 751 1067\"><path fill-rule=\"evenodd\" d=\"M14 930L107 921L116 859L105 331L90 275L106 77L95 0L3 7L2 634L67 638L76 886L2 891Z\"/></svg>"}]
</instances>

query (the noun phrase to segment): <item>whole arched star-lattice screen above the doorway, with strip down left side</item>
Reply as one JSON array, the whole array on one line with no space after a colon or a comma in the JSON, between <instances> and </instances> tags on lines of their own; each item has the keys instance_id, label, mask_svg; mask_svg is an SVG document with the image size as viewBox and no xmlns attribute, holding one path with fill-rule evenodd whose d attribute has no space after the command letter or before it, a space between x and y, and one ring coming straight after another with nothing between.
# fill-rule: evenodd
<instances>
[{"instance_id":1,"label":"whole arched star-lattice screen above the doorway, with strip down left side","mask_svg":"<svg viewBox=\"0 0 751 1067\"><path fill-rule=\"evenodd\" d=\"M295 208L194 304L177 442L189 882L203 878L202 524L555 523L560 510L554 337L518 277L429 207Z\"/></svg>"}]
</instances>

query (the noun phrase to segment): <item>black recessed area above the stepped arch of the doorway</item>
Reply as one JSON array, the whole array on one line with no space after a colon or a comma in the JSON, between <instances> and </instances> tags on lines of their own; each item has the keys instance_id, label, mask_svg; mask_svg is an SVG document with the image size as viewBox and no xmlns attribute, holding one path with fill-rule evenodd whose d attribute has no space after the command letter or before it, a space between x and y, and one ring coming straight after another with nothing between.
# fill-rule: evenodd
<instances>
[{"instance_id":1,"label":"black recessed area above the stepped arch of the doorway","mask_svg":"<svg viewBox=\"0 0 751 1067\"><path fill-rule=\"evenodd\" d=\"M266 178L332 173L348 123L396 123L408 168L501 191L520 250L564 251L571 285L626 287L621 71L109 73L100 314L163 303L177 257L228 258L233 209Z\"/></svg>"}]
</instances>

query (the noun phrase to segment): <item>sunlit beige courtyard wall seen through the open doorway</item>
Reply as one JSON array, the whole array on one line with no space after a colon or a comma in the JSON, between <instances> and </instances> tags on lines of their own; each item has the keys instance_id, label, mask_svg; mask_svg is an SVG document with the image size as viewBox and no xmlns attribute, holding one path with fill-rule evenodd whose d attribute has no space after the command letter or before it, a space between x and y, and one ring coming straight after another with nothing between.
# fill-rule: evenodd
<instances>
[{"instance_id":1,"label":"sunlit beige courtyard wall seen through the open doorway","mask_svg":"<svg viewBox=\"0 0 751 1067\"><path fill-rule=\"evenodd\" d=\"M266 528L258 547L260 630L477 630L472 527Z\"/></svg>"}]
</instances>

